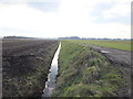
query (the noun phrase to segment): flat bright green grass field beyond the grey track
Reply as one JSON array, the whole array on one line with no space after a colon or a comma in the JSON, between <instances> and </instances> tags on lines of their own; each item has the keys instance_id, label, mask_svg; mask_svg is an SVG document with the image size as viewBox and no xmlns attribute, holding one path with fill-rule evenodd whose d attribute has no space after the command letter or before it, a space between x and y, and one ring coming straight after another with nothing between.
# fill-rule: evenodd
<instances>
[{"instance_id":1,"label":"flat bright green grass field beyond the grey track","mask_svg":"<svg viewBox=\"0 0 133 99\"><path fill-rule=\"evenodd\" d=\"M131 48L131 41L91 41L91 40L82 41L82 40L75 40L72 42L99 45L99 46L111 47L111 48L123 50L123 51L133 51L133 47Z\"/></svg>"}]
</instances>

